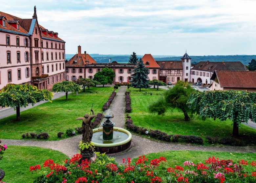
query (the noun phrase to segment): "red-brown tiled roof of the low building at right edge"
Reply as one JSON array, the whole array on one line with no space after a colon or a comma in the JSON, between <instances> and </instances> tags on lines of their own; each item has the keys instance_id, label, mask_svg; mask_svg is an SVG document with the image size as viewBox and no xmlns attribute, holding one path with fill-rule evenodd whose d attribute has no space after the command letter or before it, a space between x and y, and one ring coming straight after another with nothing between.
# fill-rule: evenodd
<instances>
[{"instance_id":1,"label":"red-brown tiled roof of the low building at right edge","mask_svg":"<svg viewBox=\"0 0 256 183\"><path fill-rule=\"evenodd\" d=\"M221 87L256 88L256 71L215 71L211 79L216 76Z\"/></svg>"}]
</instances>

